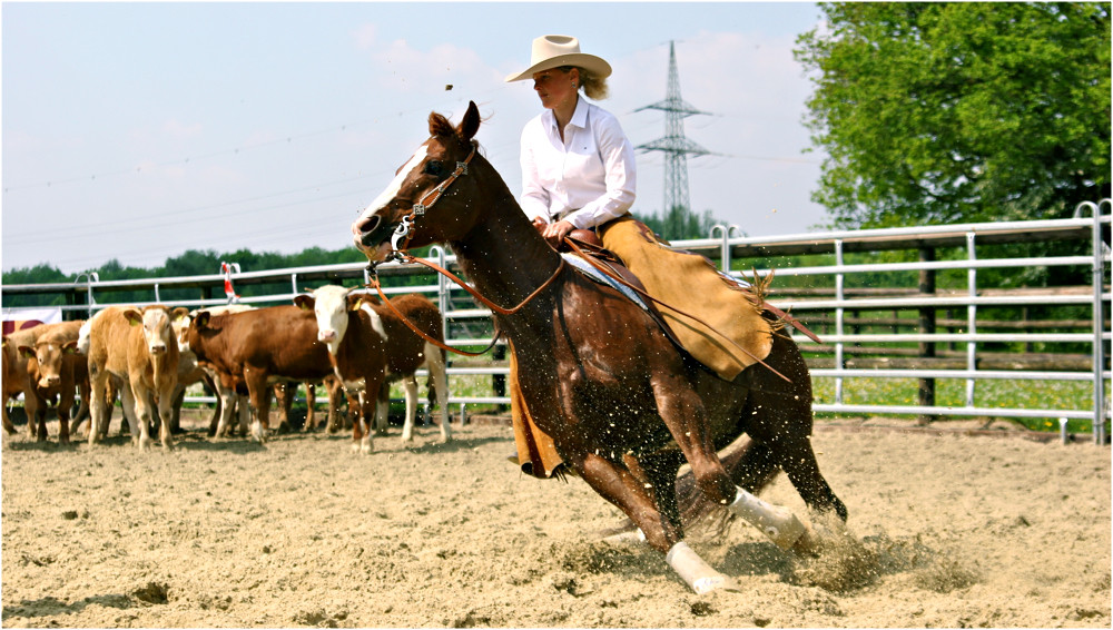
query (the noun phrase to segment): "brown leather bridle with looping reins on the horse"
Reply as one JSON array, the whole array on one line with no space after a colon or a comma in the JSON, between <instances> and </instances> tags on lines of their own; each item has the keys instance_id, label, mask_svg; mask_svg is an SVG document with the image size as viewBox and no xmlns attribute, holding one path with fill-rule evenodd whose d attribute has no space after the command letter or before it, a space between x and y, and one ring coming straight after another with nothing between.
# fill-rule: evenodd
<instances>
[{"instance_id":1,"label":"brown leather bridle with looping reins on the horse","mask_svg":"<svg viewBox=\"0 0 1113 630\"><path fill-rule=\"evenodd\" d=\"M394 252L392 252L383 260L383 263L388 262L388 260L397 260L397 262L403 263L403 264L405 264L405 263L416 263L416 264L420 264L420 265L424 265L424 266L433 269L434 272L444 275L446 278L449 278L452 282L454 282L457 285L460 285L464 291L466 291L469 294L471 294L472 297L474 297L475 299L477 299L481 304L483 304L484 306L486 306L487 308L490 308L494 313L499 313L500 315L513 315L514 313L518 313L519 311L521 311L522 308L524 308L526 304L529 304L531 301L533 301L534 297L536 297L538 295L540 295L541 292L543 292L551 284L553 284L553 282L556 280L556 277L560 276L561 270L564 269L565 263L564 263L564 258L563 257L561 257L560 264L556 266L556 270L553 272L553 275L550 276L549 279L546 279L533 293L531 293L530 295L528 295L525 297L525 299L523 299L516 306L506 308L506 307L503 307L503 306L499 306L498 304L491 302L490 299L487 299L486 297L484 297L483 295L481 295L477 291L475 291L474 288L472 288L471 286L469 286L466 283L464 283L464 280L460 279L452 272L450 272L450 270L447 270L447 269L441 267L440 265L436 265L436 264L434 264L434 263L432 263L430 260L425 260L423 258L417 258L415 256L411 256L410 253L408 253L410 242L413 239L413 228L414 228L414 225L417 223L417 219L421 218L421 217L423 217L423 216L425 216L425 211L429 210L430 208L432 208L433 205L436 204L441 199L441 196L444 195L444 193L449 189L450 186L453 185L453 183L456 181L456 179L459 179L461 176L467 175L467 165L472 161L472 158L475 157L475 149L476 149L476 142L473 140L472 141L472 151L470 154L467 154L467 157L464 158L464 161L457 161L456 163L456 170L452 171L452 175L450 175L449 177L446 177L444 179L444 181L440 183L436 186L436 188L433 188L432 190L430 190L429 193L426 193L425 195L423 195L422 198L418 199L417 203L413 205L413 208L410 210L410 214L407 214L406 216L402 217L402 223L400 223L398 227L396 227L394 229L394 236L391 237L391 246L394 248ZM377 273L377 266L380 264L382 264L382 263L372 263L371 265L367 266L367 270L370 272L370 274L372 276L372 282L371 282L371 284L368 286L374 287L378 292L378 296L383 301L383 303L386 304L391 308L391 311L394 312L395 315L397 315L398 317L401 317L402 321L407 326L410 326L411 329L413 329L415 333L417 333L417 335L420 335L426 342L430 342L431 344L440 347L441 350L445 350L445 351L449 351L449 352L452 352L452 353L455 353L455 354L461 354L461 355L464 355L464 356L480 356L480 355L486 354L487 351L490 351L492 347L494 347L494 344L498 343L499 337L501 336L501 333L502 333L501 331L496 332L494 338L491 339L491 345L489 345L486 348L483 348L481 352L471 353L471 352L465 352L465 351L462 351L462 350L456 350L454 347L451 347L451 346L444 344L443 342L441 342L441 341L439 341L439 339L436 339L434 337L431 337L430 335L427 335L424 332L422 332L421 329L418 329L417 326L415 326L412 322L410 322L410 319L407 319L405 315L403 315L402 313L398 312L397 308L395 308L395 306L386 297L386 294L383 293L383 287L382 287L382 285L378 282L378 273Z\"/></svg>"}]
</instances>

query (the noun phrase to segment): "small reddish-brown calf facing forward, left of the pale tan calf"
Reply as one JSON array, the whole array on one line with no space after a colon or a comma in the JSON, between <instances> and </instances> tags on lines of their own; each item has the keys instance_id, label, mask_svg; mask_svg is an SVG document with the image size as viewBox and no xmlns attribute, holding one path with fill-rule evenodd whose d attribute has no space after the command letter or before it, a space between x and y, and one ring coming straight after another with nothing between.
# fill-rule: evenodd
<instances>
[{"instance_id":1,"label":"small reddish-brown calf facing forward, left of the pale tan calf","mask_svg":"<svg viewBox=\"0 0 1113 630\"><path fill-rule=\"evenodd\" d=\"M32 345L19 346L19 354L27 360L27 385L23 393L28 433L39 442L46 441L47 408L57 400L58 442L69 443L70 410L75 393L88 401L89 370L86 357L78 353L78 331L85 322L62 322L43 326Z\"/></svg>"}]
</instances>

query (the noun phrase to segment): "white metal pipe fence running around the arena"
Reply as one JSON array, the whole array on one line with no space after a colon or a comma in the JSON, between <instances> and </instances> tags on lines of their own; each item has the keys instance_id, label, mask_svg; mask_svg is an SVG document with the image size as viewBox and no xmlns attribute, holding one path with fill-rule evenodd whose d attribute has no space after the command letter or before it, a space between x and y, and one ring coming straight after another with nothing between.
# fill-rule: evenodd
<instances>
[{"instance_id":1,"label":"white metal pipe fence running around the arena","mask_svg":"<svg viewBox=\"0 0 1113 630\"><path fill-rule=\"evenodd\" d=\"M1111 415L1105 392L1113 371L1110 370L1107 348L1111 339L1107 318L1110 308L1110 226L1111 200L1081 204L1075 211L1075 218L1035 222L1008 222L992 224L968 224L948 226L920 226L890 229L869 229L854 232L809 233L784 235L777 237L737 236L740 230L736 226L716 226L711 237L676 242L673 246L707 256L717 262L720 269L740 279L751 278L751 273L733 270L738 262L762 264L769 258L785 256L809 256L826 258L820 263L807 260L802 264L791 264L776 268L777 278L808 277L834 286L799 287L799 294L794 294L791 287L781 288L774 283L775 292L770 302L791 313L805 323L814 318L817 324L833 328L821 335L823 344L815 344L802 335L794 335L806 355L834 354L831 367L815 366L811 371L817 378L831 378L835 384L834 401L816 403L817 412L853 413L853 414L914 414L920 416L959 415L959 416L994 416L994 417L1047 417L1090 420L1093 426L1094 441L1104 443L1105 423ZM1089 216L1086 216L1089 215ZM981 257L987 247L1015 243L1066 243L1072 252L1061 256L1046 257ZM937 260L938 250L962 250L957 259ZM919 253L918 262L876 263L855 262L848 259L848 254L877 254L884 252L915 250ZM430 257L444 267L452 268L455 258L442 247L433 247ZM752 265L748 265L752 266ZM1050 288L1012 288L999 289L978 284L978 272L985 269L1021 269L1021 268L1074 267L1089 269L1089 285ZM229 267L235 269L235 267ZM946 272L965 272L966 286L958 289L937 291L936 275ZM418 286L393 286L386 288L387 294L425 293L437 303L444 318L449 344L452 346L485 346L491 342L490 331L476 336L469 327L483 328L482 325L491 317L485 308L476 308L475 303L466 294L450 284L441 276L433 277L427 269L417 265L401 265L391 263L382 265L380 275L387 282L392 277L420 276L431 282ZM770 268L755 268L752 273L766 275ZM916 273L919 277L917 288L902 286L886 287L848 287L848 279L863 274L871 276ZM366 266L363 264L325 265L292 269L272 269L260 272L225 270L221 274L189 277L146 278L130 280L101 282L96 275L82 274L73 283L14 285L2 287L3 297L9 299L17 295L63 295L66 305L61 308L80 316L91 315L96 309L112 304L114 293L122 291L144 289L151 292L151 299L146 303L162 302L162 292L177 288L198 288L209 292L210 297L175 301L174 305L187 307L204 307L226 304L224 294L225 282L232 282L237 287L259 284L285 284L289 292L278 292L267 295L244 297L248 304L288 304L295 295L303 293L306 286L317 286L324 283L346 283L351 280L366 283ZM751 278L752 279L752 278ZM1057 306L1076 306L1089 308L1091 317L1080 319L1077 316L1063 322L1041 322L1032 326L1031 332L986 333L983 328L1001 329L1003 322L984 322L978 319L979 308L1026 308L1041 305L1038 301L1053 302ZM144 302L140 302L144 303ZM956 311L965 309L966 317L956 317ZM936 312L944 311L949 315L938 319ZM864 317L863 313L892 312L912 314L908 317L890 316L884 321ZM880 323L878 323L880 322ZM479 323L479 324L476 324ZM1015 322L1008 322L1008 327L1015 327ZM471 326L470 326L471 325ZM814 324L809 324L814 325ZM893 328L908 328L902 332ZM936 332L936 328L947 332ZM859 332L860 328L888 328L892 332ZM954 328L965 328L955 332ZM1048 329L1052 328L1052 329ZM1054 328L1068 328L1083 332L1062 332ZM935 344L952 344L965 346L963 356L965 366L958 370L934 368ZM978 368L979 358L985 352L979 348L986 344L1075 344L1089 347L1090 370L986 370ZM886 368L880 366L859 368L847 360L863 344L883 346L894 344L889 350L906 350L905 346L916 344L917 356L923 358L923 367ZM503 350L504 352L504 350ZM884 353L885 347L875 352ZM449 368L450 378L465 375L491 375L504 377L508 367L504 361L491 362L493 365L476 367L474 365L452 365ZM819 362L817 362L819 363ZM830 364L831 361L824 361ZM1077 362L1074 362L1075 364ZM844 402L844 383L851 378L917 378L922 383L920 403L917 405L867 405L848 404ZM938 378L955 378L965 381L966 400L963 405L935 405L934 381ZM1040 381L1073 381L1090 382L1093 387L1092 404L1089 408L997 408L983 407L975 404L975 390L982 380L1040 380ZM505 395L494 396L453 396L450 402L461 405L461 413L466 405L475 404L509 404Z\"/></svg>"}]
</instances>

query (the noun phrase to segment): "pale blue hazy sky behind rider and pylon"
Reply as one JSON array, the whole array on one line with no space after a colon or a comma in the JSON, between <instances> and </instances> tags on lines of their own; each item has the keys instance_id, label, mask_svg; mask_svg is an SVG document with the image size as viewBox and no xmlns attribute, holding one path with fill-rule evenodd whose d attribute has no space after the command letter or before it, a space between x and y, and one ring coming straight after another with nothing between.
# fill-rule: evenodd
<instances>
[{"instance_id":1,"label":"pale blue hazy sky behind rider and pylon","mask_svg":"<svg viewBox=\"0 0 1113 630\"><path fill-rule=\"evenodd\" d=\"M157 267L189 249L352 245L349 225L470 100L476 139L521 190L519 138L542 111L533 38L572 35L607 59L634 146L666 134L673 42L691 207L749 236L825 220L805 2L8 2L2 28L2 267L68 275ZM451 89L447 89L452 86ZM664 155L638 151L633 210L664 205ZM257 270L257 269L243 269ZM213 273L218 273L214 269Z\"/></svg>"}]
</instances>

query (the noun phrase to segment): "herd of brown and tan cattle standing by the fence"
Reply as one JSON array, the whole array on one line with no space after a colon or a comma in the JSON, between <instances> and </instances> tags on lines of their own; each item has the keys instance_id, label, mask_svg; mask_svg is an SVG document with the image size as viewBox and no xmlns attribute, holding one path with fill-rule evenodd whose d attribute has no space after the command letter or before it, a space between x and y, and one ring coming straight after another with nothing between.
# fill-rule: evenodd
<instances>
[{"instance_id":1,"label":"herd of brown and tan cattle standing by the fence","mask_svg":"<svg viewBox=\"0 0 1113 630\"><path fill-rule=\"evenodd\" d=\"M426 341L443 346L441 313L418 294L392 298L391 304L394 308L366 293L328 285L298 295L293 305L194 312L164 305L109 306L88 321L18 331L3 337L3 427L9 434L16 432L7 404L23 394L31 439L48 439L46 414L53 407L59 442L69 442L87 415L92 446L108 435L119 396L132 442L148 447L152 424L158 422L158 437L171 449L186 387L204 382L218 396L209 435L230 434L238 410L240 434L247 435L249 429L252 437L264 442L272 392L280 422L286 423L293 392L304 383L305 427L314 429L314 392L323 383L328 391L329 430L339 425L343 394L352 447L370 453L373 433L386 427L390 385L398 380L406 401L402 439L413 439L415 372L426 367L431 402L435 393L441 410L441 437L447 441L445 353ZM71 421L78 396L80 408Z\"/></svg>"}]
</instances>

